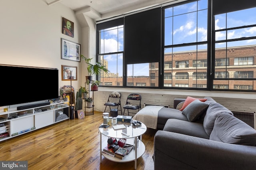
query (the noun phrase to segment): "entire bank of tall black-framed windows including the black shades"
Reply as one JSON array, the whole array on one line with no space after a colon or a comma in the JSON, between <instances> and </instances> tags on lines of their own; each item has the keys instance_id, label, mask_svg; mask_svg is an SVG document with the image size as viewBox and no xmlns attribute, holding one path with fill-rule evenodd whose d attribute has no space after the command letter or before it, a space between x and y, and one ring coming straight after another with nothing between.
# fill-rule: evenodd
<instances>
[{"instance_id":1,"label":"entire bank of tall black-framed windows including the black shades","mask_svg":"<svg viewBox=\"0 0 256 170\"><path fill-rule=\"evenodd\" d=\"M176 2L97 24L101 85L256 91L256 1Z\"/></svg>"}]
</instances>

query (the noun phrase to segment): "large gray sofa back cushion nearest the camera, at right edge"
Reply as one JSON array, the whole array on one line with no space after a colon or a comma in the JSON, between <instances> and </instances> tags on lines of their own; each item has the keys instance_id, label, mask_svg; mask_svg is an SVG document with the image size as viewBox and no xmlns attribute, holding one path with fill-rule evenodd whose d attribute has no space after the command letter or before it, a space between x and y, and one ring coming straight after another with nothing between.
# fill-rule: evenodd
<instances>
[{"instance_id":1,"label":"large gray sofa back cushion nearest the camera, at right edge","mask_svg":"<svg viewBox=\"0 0 256 170\"><path fill-rule=\"evenodd\" d=\"M256 130L228 113L221 113L217 115L210 140L256 146Z\"/></svg>"}]
</instances>

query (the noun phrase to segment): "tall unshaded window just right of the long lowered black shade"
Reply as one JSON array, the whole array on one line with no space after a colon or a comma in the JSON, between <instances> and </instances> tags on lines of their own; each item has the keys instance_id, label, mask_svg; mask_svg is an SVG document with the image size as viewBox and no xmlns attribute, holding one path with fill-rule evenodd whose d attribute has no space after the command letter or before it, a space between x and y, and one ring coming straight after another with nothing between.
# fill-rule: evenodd
<instances>
[{"instance_id":1,"label":"tall unshaded window just right of the long lowered black shade","mask_svg":"<svg viewBox=\"0 0 256 170\"><path fill-rule=\"evenodd\" d=\"M164 8L164 87L206 88L208 1L190 1ZM169 64L170 63L170 64ZM174 65L172 65L174 63ZM193 67L193 69L192 69ZM172 69L170 69L172 68ZM172 82L168 76L175 77ZM191 79L190 79L191 77ZM193 77L193 79L192 79ZM186 80L186 84L183 81Z\"/></svg>"}]
</instances>

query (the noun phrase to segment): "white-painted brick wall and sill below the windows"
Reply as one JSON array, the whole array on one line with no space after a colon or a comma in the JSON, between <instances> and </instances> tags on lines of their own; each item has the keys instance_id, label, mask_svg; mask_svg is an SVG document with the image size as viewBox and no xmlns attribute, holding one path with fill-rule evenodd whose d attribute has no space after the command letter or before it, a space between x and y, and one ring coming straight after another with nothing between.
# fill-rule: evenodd
<instances>
[{"instance_id":1,"label":"white-painted brick wall and sill below the windows","mask_svg":"<svg viewBox=\"0 0 256 170\"><path fill-rule=\"evenodd\" d=\"M127 96L130 93L139 93L142 96L142 108L144 107L144 103L169 105L170 107L173 107L173 101L176 98L186 99L187 96L203 98L208 96L212 97L216 102L222 104L231 111L245 111L250 113L256 111L255 93L108 87L99 87L99 91L94 92L94 105L96 111L104 111L104 103L106 103L108 96L112 91L118 91L121 93L122 107L126 103ZM107 107L106 112L109 112L109 107ZM134 114L131 115L133 116Z\"/></svg>"}]
</instances>

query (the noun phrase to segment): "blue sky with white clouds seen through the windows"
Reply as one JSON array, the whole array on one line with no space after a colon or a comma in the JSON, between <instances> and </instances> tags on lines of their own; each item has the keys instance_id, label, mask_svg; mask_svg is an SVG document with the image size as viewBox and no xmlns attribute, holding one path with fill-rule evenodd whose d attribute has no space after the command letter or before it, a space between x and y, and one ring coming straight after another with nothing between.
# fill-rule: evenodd
<instances>
[{"instance_id":1,"label":"blue sky with white clouds seen through the windows","mask_svg":"<svg viewBox=\"0 0 256 170\"><path fill-rule=\"evenodd\" d=\"M164 45L207 41L207 7L207 0L200 0L198 4L191 2L165 9ZM215 30L256 24L255 14L256 8L230 12L227 13L227 21L226 14L216 15ZM101 34L101 53L123 51L123 33L123 26L105 30L104 34ZM216 32L215 36L216 40L225 40L226 32ZM256 27L229 30L227 32L228 39L250 36L256 36ZM256 40L244 40L240 42L229 42L227 45L228 47L232 47L255 44ZM216 48L220 47L226 47L226 43L217 43ZM198 49L207 49L207 44L199 45ZM188 50L196 50L196 46L177 47L173 49L166 48L165 53ZM106 55L104 59L108 61L108 69L111 73L119 73L119 76L122 75L122 55ZM118 67L116 67L116 65L118 65ZM148 63L136 64L134 65L134 68L135 67L136 69L132 69L132 65L128 65L127 76L149 76ZM134 72L132 72L132 70L134 70Z\"/></svg>"}]
</instances>

